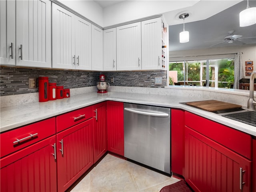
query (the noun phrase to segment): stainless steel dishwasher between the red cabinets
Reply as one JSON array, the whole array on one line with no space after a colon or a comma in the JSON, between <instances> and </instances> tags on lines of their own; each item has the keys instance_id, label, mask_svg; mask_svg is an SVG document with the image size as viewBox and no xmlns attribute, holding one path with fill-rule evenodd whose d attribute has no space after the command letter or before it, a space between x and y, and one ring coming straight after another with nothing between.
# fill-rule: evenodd
<instances>
[{"instance_id":1,"label":"stainless steel dishwasher between the red cabinets","mask_svg":"<svg viewBox=\"0 0 256 192\"><path fill-rule=\"evenodd\" d=\"M124 103L124 156L170 174L170 109Z\"/></svg>"}]
</instances>

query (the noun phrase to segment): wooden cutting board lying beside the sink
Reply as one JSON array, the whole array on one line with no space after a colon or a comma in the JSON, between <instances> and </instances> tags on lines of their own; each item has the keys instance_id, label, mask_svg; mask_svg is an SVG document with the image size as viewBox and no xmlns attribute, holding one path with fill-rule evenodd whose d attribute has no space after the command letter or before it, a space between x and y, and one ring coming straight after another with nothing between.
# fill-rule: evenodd
<instances>
[{"instance_id":1,"label":"wooden cutting board lying beside the sink","mask_svg":"<svg viewBox=\"0 0 256 192\"><path fill-rule=\"evenodd\" d=\"M241 105L236 105L236 104L217 101L217 100L186 102L186 104L190 106L194 106L196 108L206 110L206 111L211 111L211 112L242 107Z\"/></svg>"}]
</instances>

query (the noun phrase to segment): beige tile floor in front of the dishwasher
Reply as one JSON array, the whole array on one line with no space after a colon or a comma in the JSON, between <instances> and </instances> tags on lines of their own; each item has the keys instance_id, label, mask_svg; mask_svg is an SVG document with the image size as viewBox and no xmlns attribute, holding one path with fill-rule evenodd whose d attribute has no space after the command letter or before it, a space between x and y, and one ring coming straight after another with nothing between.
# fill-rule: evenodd
<instances>
[{"instance_id":1,"label":"beige tile floor in front of the dishwasher","mask_svg":"<svg viewBox=\"0 0 256 192\"><path fill-rule=\"evenodd\" d=\"M71 192L159 192L178 181L107 154Z\"/></svg>"}]
</instances>

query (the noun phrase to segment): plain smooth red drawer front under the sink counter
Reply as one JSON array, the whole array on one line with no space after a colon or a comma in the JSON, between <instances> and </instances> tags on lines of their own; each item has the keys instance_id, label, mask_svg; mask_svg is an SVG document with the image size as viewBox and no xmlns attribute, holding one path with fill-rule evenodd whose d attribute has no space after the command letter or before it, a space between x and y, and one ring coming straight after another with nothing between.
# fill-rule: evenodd
<instances>
[{"instance_id":1,"label":"plain smooth red drawer front under the sink counter","mask_svg":"<svg viewBox=\"0 0 256 192\"><path fill-rule=\"evenodd\" d=\"M185 112L185 125L238 154L252 159L252 137L250 135L187 111Z\"/></svg>"}]
</instances>

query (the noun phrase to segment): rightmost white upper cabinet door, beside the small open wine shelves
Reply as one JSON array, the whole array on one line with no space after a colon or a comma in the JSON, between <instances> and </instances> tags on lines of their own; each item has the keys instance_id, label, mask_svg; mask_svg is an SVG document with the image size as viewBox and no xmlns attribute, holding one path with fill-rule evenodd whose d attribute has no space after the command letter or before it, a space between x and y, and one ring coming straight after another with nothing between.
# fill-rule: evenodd
<instances>
[{"instance_id":1,"label":"rightmost white upper cabinet door, beside the small open wine shelves","mask_svg":"<svg viewBox=\"0 0 256 192\"><path fill-rule=\"evenodd\" d=\"M161 18L141 22L142 70L162 69Z\"/></svg>"}]
</instances>

